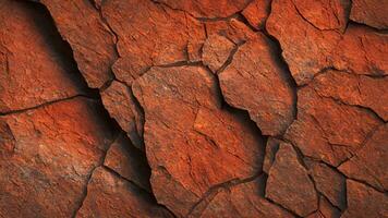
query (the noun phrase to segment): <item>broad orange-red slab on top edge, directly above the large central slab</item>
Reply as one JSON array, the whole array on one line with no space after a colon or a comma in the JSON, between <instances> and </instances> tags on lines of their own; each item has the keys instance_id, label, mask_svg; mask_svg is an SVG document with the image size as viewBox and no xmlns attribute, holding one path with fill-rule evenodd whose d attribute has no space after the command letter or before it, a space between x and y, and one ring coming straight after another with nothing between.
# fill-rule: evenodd
<instances>
[{"instance_id":1,"label":"broad orange-red slab on top edge, directly above the large central slab","mask_svg":"<svg viewBox=\"0 0 388 218\"><path fill-rule=\"evenodd\" d=\"M128 85L149 66L189 61L187 44L199 53L206 37L187 13L151 1L107 1L102 14L119 37L121 70L114 74Z\"/></svg>"}]
</instances>

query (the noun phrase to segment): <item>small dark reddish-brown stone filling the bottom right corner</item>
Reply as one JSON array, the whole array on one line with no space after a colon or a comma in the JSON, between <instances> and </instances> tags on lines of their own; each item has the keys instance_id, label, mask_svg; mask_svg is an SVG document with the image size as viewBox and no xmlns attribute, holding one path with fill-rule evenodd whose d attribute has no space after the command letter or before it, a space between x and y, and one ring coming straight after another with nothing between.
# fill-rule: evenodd
<instances>
[{"instance_id":1,"label":"small dark reddish-brown stone filling the bottom right corner","mask_svg":"<svg viewBox=\"0 0 388 218\"><path fill-rule=\"evenodd\" d=\"M388 197L362 183L347 180L348 208L343 218L380 218L388 215Z\"/></svg>"}]
</instances>

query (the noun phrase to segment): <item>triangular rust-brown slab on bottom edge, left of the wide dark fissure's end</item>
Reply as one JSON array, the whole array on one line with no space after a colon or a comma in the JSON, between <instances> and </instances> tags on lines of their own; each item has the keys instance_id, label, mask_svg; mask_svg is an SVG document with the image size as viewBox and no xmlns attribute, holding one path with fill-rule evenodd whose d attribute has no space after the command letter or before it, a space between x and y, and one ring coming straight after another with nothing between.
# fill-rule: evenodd
<instances>
[{"instance_id":1,"label":"triangular rust-brown slab on bottom edge, left of the wide dark fissure's end","mask_svg":"<svg viewBox=\"0 0 388 218\"><path fill-rule=\"evenodd\" d=\"M97 168L87 185L87 195L76 217L173 217L157 205L147 192Z\"/></svg>"}]
</instances>

